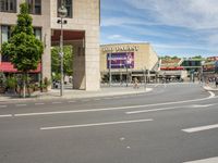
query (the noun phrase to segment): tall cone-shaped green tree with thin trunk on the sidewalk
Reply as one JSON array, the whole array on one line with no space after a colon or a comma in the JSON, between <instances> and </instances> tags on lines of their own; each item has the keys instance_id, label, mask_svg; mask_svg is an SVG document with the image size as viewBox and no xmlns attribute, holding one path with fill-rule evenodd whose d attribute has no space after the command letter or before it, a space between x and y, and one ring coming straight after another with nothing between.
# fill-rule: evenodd
<instances>
[{"instance_id":1,"label":"tall cone-shaped green tree with thin trunk on the sidewalk","mask_svg":"<svg viewBox=\"0 0 218 163\"><path fill-rule=\"evenodd\" d=\"M28 14L28 4L22 3L20 9L11 38L2 45L2 54L8 55L17 71L23 73L23 95L25 98L27 73L37 68L44 47L43 42L34 35L33 18Z\"/></svg>"}]
</instances>

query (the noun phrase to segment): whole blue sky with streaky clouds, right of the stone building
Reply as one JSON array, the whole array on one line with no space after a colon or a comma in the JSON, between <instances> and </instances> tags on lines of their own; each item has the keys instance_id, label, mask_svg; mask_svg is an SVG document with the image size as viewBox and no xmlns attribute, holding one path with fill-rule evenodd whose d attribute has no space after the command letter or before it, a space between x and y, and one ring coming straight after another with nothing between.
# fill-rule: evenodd
<instances>
[{"instance_id":1,"label":"whole blue sky with streaky clouds, right of the stone building","mask_svg":"<svg viewBox=\"0 0 218 163\"><path fill-rule=\"evenodd\" d=\"M150 42L158 55L218 55L218 0L101 0L100 43Z\"/></svg>"}]
</instances>

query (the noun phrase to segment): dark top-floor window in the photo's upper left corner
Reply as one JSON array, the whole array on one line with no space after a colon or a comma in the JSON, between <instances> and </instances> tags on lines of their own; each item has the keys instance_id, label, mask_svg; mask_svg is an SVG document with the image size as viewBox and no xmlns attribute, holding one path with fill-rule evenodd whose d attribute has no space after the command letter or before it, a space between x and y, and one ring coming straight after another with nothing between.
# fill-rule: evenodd
<instances>
[{"instance_id":1,"label":"dark top-floor window in the photo's upper left corner","mask_svg":"<svg viewBox=\"0 0 218 163\"><path fill-rule=\"evenodd\" d=\"M16 12L16 0L0 0L0 12Z\"/></svg>"}]
</instances>

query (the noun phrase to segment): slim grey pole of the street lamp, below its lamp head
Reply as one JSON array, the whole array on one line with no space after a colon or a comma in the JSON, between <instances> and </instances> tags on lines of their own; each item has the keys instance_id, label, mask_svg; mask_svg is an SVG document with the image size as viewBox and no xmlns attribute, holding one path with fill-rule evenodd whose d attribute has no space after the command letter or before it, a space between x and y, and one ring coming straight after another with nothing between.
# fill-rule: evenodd
<instances>
[{"instance_id":1,"label":"slim grey pole of the street lamp, below its lamp head","mask_svg":"<svg viewBox=\"0 0 218 163\"><path fill-rule=\"evenodd\" d=\"M63 18L61 17L61 36L60 36L60 58L61 58L61 83L60 96L63 96Z\"/></svg>"}]
</instances>

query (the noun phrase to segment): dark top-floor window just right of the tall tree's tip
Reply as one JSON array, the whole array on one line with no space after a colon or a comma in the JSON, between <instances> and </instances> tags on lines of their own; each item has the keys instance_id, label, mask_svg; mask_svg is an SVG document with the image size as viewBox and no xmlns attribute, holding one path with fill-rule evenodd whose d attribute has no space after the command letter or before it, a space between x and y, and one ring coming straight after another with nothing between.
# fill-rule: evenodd
<instances>
[{"instance_id":1,"label":"dark top-floor window just right of the tall tree's tip","mask_svg":"<svg viewBox=\"0 0 218 163\"><path fill-rule=\"evenodd\" d=\"M32 14L41 14L41 0L26 0L29 8L29 13Z\"/></svg>"}]
</instances>

